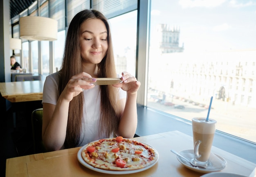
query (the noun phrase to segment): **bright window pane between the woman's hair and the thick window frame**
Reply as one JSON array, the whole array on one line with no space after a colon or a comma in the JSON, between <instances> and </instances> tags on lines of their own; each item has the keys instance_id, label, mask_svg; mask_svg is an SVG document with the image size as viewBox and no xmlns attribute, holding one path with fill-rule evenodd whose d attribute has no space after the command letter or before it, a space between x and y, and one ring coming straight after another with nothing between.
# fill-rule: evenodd
<instances>
[{"instance_id":1,"label":"bright window pane between the woman's hair and the thick window frame","mask_svg":"<svg viewBox=\"0 0 256 177\"><path fill-rule=\"evenodd\" d=\"M127 71L135 76L137 10L110 20L117 73Z\"/></svg>"}]
</instances>

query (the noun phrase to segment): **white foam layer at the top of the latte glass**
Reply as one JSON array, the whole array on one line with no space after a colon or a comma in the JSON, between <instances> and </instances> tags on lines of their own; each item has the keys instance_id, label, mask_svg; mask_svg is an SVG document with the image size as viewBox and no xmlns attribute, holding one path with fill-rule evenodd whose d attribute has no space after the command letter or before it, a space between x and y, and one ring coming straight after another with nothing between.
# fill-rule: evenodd
<instances>
[{"instance_id":1,"label":"white foam layer at the top of the latte glass","mask_svg":"<svg viewBox=\"0 0 256 177\"><path fill-rule=\"evenodd\" d=\"M202 134L212 134L215 133L216 120L206 118L193 118L193 131Z\"/></svg>"}]
</instances>

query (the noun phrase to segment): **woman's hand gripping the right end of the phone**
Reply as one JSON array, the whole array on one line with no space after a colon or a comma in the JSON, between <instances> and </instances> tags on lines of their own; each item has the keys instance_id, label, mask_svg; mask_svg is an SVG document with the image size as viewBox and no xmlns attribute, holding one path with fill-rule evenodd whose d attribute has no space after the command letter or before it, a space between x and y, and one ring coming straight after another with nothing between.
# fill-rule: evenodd
<instances>
[{"instance_id":1,"label":"woman's hand gripping the right end of the phone","mask_svg":"<svg viewBox=\"0 0 256 177\"><path fill-rule=\"evenodd\" d=\"M139 90L140 82L137 81L135 76L132 76L128 72L122 72L122 83L114 85L115 87L121 87L122 90L128 94L135 94Z\"/></svg>"}]
</instances>

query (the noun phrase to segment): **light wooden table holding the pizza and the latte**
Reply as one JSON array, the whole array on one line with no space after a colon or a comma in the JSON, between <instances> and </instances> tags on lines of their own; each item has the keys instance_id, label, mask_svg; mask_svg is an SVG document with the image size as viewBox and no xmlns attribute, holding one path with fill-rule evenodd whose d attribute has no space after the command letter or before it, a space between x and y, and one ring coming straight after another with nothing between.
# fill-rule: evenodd
<instances>
[{"instance_id":1,"label":"light wooden table holding the pizza and the latte","mask_svg":"<svg viewBox=\"0 0 256 177\"><path fill-rule=\"evenodd\" d=\"M176 151L193 149L193 140L191 136L179 131L169 131L134 139L153 146L159 153L159 160L157 164L148 170L132 174L133 177L200 177L203 175L203 173L198 173L184 167L177 160L176 155L170 151L170 149L175 149ZM77 160L77 152L80 148L81 147L7 159L6 177L113 176L98 173L81 165ZM249 176L256 167L256 164L216 147L212 148L212 152L220 155L227 161L227 166L222 172L239 173ZM122 176L130 175L131 174Z\"/></svg>"}]
</instances>

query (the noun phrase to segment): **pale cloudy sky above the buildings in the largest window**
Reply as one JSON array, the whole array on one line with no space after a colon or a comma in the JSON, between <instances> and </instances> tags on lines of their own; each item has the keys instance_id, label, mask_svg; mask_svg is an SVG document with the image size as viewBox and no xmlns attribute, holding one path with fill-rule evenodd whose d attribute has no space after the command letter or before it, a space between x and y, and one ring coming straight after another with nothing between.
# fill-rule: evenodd
<instances>
[{"instance_id":1,"label":"pale cloudy sky above the buildings in the largest window","mask_svg":"<svg viewBox=\"0 0 256 177\"><path fill-rule=\"evenodd\" d=\"M151 29L157 24L180 28L184 52L256 48L256 0L151 2Z\"/></svg>"}]
</instances>

